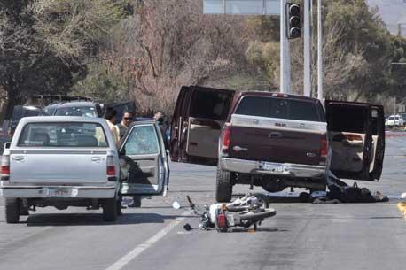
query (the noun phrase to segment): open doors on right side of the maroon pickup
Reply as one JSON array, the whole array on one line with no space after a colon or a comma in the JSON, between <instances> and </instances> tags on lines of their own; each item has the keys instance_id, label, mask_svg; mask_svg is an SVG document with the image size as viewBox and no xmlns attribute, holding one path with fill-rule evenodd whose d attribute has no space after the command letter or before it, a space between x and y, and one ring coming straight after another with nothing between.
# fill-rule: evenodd
<instances>
[{"instance_id":1,"label":"open doors on right side of the maroon pickup","mask_svg":"<svg viewBox=\"0 0 406 270\"><path fill-rule=\"evenodd\" d=\"M385 149L383 108L326 100L330 170L339 178L379 180Z\"/></svg>"}]
</instances>

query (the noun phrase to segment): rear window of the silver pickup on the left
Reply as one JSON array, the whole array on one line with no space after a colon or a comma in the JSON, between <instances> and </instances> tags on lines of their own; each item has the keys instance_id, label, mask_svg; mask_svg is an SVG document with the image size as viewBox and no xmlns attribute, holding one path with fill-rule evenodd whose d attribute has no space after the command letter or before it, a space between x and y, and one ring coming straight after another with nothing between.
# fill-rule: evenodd
<instances>
[{"instance_id":1,"label":"rear window of the silver pickup on the left","mask_svg":"<svg viewBox=\"0 0 406 270\"><path fill-rule=\"evenodd\" d=\"M108 143L100 124L52 122L27 124L18 146L107 147Z\"/></svg>"}]
</instances>

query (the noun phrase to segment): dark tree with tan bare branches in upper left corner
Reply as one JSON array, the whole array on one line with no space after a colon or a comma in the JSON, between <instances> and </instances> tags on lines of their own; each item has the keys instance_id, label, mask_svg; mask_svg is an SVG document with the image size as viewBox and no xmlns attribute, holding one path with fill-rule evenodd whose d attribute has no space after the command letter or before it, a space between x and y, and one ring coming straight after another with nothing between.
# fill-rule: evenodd
<instances>
[{"instance_id":1,"label":"dark tree with tan bare branches in upper left corner","mask_svg":"<svg viewBox=\"0 0 406 270\"><path fill-rule=\"evenodd\" d=\"M113 0L0 2L0 89L5 119L32 93L67 93L97 58L127 5Z\"/></svg>"}]
</instances>

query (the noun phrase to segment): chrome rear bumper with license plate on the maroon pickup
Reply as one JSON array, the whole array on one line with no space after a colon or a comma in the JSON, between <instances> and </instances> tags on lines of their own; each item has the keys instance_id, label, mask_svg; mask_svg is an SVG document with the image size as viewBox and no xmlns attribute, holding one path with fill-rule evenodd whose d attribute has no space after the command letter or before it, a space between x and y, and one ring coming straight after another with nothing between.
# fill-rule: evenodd
<instances>
[{"instance_id":1,"label":"chrome rear bumper with license plate on the maroon pickup","mask_svg":"<svg viewBox=\"0 0 406 270\"><path fill-rule=\"evenodd\" d=\"M237 158L220 158L219 164L223 170L241 174L270 174L301 178L324 177L326 170L325 166L272 163ZM274 167L274 169L269 168L269 166Z\"/></svg>"}]
</instances>

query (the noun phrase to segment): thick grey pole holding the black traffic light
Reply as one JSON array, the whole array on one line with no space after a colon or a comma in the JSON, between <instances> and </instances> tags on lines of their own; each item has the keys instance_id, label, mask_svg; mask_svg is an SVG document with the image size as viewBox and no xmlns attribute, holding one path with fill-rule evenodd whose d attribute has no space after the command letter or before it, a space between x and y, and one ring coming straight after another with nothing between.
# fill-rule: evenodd
<instances>
[{"instance_id":1,"label":"thick grey pole holding the black traffic light","mask_svg":"<svg viewBox=\"0 0 406 270\"><path fill-rule=\"evenodd\" d=\"M280 92L291 92L291 57L286 31L286 0L280 0Z\"/></svg>"}]
</instances>

